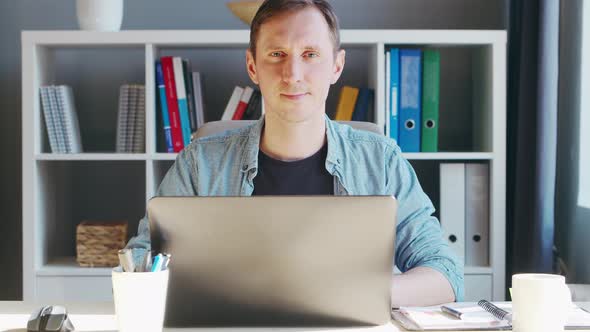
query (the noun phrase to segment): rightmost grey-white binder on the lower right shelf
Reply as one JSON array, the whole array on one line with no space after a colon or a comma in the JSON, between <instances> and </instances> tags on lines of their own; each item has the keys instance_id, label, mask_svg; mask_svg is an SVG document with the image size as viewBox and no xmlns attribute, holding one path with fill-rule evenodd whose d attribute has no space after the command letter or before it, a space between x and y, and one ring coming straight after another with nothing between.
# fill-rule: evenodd
<instances>
[{"instance_id":1,"label":"rightmost grey-white binder on the lower right shelf","mask_svg":"<svg viewBox=\"0 0 590 332\"><path fill-rule=\"evenodd\" d=\"M489 265L489 170L465 165L465 265Z\"/></svg>"}]
</instances>

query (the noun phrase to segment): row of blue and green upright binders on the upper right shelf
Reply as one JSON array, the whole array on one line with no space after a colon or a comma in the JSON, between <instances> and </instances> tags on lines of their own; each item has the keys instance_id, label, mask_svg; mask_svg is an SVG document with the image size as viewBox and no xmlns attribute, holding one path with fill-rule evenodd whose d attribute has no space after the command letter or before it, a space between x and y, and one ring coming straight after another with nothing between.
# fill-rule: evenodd
<instances>
[{"instance_id":1,"label":"row of blue and green upright binders on the upper right shelf","mask_svg":"<svg viewBox=\"0 0 590 332\"><path fill-rule=\"evenodd\" d=\"M385 131L403 152L438 151L439 81L438 51L386 52Z\"/></svg>"}]
</instances>

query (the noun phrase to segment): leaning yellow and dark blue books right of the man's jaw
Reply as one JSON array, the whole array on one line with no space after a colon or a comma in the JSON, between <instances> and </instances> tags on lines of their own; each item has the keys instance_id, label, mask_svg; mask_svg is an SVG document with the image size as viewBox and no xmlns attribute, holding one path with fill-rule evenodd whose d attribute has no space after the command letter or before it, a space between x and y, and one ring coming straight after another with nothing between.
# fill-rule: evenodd
<instances>
[{"instance_id":1,"label":"leaning yellow and dark blue books right of the man's jaw","mask_svg":"<svg viewBox=\"0 0 590 332\"><path fill-rule=\"evenodd\" d=\"M374 94L373 89L343 86L340 89L334 120L369 121L369 110L373 108Z\"/></svg>"}]
</instances>

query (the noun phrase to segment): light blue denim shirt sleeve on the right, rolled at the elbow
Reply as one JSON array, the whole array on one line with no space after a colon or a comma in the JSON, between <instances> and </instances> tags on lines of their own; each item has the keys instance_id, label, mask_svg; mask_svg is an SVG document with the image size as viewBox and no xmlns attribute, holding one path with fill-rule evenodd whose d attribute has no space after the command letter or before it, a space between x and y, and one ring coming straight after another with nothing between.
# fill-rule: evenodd
<instances>
[{"instance_id":1,"label":"light blue denim shirt sleeve on the right, rolled at the elbow","mask_svg":"<svg viewBox=\"0 0 590 332\"><path fill-rule=\"evenodd\" d=\"M432 216L434 206L422 190L410 163L396 147L388 179L389 192L398 201L395 263L401 272L423 266L442 273L463 301L463 262L443 238L440 222Z\"/></svg>"}]
</instances>

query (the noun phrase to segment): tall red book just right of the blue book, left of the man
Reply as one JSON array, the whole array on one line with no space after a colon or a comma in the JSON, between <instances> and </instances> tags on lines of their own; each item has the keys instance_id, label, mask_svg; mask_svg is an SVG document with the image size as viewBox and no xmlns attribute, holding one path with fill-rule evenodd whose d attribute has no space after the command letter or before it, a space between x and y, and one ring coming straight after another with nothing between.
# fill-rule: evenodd
<instances>
[{"instance_id":1,"label":"tall red book just right of the blue book, left of the man","mask_svg":"<svg viewBox=\"0 0 590 332\"><path fill-rule=\"evenodd\" d=\"M170 119L170 131L174 152L180 152L184 148L182 129L180 125L180 114L178 113L178 101L176 99L176 84L174 82L174 67L172 57L160 58L162 72L164 73L164 86L166 89L166 104L168 105L168 116Z\"/></svg>"}]
</instances>

